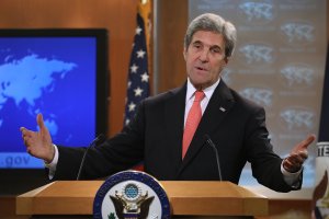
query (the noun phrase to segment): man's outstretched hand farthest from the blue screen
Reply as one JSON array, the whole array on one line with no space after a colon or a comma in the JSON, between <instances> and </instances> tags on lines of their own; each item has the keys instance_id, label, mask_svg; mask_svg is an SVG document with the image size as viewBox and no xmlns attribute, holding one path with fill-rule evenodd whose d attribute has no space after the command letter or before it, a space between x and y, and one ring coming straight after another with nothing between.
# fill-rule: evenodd
<instances>
[{"instance_id":1,"label":"man's outstretched hand farthest from the blue screen","mask_svg":"<svg viewBox=\"0 0 329 219\"><path fill-rule=\"evenodd\" d=\"M290 155L283 161L283 168L287 172L295 173L302 169L303 163L308 158L307 148L315 139L315 135L309 135L293 148Z\"/></svg>"}]
</instances>

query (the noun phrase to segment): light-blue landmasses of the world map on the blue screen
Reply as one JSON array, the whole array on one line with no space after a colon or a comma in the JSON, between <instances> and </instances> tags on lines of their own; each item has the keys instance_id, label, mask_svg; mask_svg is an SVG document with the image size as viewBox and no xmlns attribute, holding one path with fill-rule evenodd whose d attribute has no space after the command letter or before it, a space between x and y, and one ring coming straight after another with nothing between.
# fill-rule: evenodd
<instances>
[{"instance_id":1,"label":"light-blue landmasses of the world map on the blue screen","mask_svg":"<svg viewBox=\"0 0 329 219\"><path fill-rule=\"evenodd\" d=\"M54 90L55 78L64 79L77 67L73 62L42 58L36 54L26 55L19 60L11 59L9 56L5 61L0 66L0 112L9 100L13 100L16 107L21 107L22 102L25 102L26 111L32 116L39 112L35 102L42 97L44 92ZM3 119L3 116L0 117L0 129ZM56 122L46 119L45 125L49 128L50 134L56 136L58 130Z\"/></svg>"}]
</instances>

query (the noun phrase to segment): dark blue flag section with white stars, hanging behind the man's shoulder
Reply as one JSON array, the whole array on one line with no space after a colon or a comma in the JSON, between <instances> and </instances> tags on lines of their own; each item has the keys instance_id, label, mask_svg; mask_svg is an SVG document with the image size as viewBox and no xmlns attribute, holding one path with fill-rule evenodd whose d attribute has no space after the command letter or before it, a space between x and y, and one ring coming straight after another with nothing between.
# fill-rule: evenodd
<instances>
[{"instance_id":1,"label":"dark blue flag section with white stars, hanging behind the man's shoulder","mask_svg":"<svg viewBox=\"0 0 329 219\"><path fill-rule=\"evenodd\" d=\"M137 111L138 104L150 94L146 37L145 21L140 14L140 10L138 10L127 79L124 125L129 124Z\"/></svg>"}]
</instances>

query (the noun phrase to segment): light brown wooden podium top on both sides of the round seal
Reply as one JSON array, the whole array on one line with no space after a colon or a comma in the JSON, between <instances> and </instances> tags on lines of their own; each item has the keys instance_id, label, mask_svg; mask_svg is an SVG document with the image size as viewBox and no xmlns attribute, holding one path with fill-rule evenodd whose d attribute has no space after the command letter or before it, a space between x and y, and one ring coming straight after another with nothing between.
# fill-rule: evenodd
<instances>
[{"instance_id":1,"label":"light brown wooden podium top on both sides of the round seal","mask_svg":"<svg viewBox=\"0 0 329 219\"><path fill-rule=\"evenodd\" d=\"M103 181L57 181L16 197L16 215L92 218ZM268 198L230 182L161 181L175 218L266 216Z\"/></svg>"}]
</instances>

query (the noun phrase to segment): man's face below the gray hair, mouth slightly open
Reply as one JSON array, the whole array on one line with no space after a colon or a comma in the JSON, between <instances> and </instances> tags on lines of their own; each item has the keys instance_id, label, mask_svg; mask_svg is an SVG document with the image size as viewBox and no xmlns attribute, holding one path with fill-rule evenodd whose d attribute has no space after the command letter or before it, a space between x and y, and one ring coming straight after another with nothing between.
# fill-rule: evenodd
<instances>
[{"instance_id":1,"label":"man's face below the gray hair, mouth slightly open","mask_svg":"<svg viewBox=\"0 0 329 219\"><path fill-rule=\"evenodd\" d=\"M197 31L188 48L184 48L186 71L196 89L214 84L228 62L225 57L225 43L222 34Z\"/></svg>"}]
</instances>

